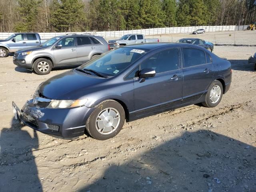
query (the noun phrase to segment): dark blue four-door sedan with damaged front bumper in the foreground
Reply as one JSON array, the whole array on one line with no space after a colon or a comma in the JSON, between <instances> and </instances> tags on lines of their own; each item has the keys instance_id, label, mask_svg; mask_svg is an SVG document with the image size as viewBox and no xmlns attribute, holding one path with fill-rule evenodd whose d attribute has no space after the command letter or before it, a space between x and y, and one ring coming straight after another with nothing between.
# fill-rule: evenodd
<instances>
[{"instance_id":1,"label":"dark blue four-door sedan with damaged front bumper in the foreground","mask_svg":"<svg viewBox=\"0 0 256 192\"><path fill-rule=\"evenodd\" d=\"M230 84L230 62L200 46L137 44L46 80L22 110L13 108L40 132L106 140L125 121L197 103L215 107Z\"/></svg>"}]
</instances>

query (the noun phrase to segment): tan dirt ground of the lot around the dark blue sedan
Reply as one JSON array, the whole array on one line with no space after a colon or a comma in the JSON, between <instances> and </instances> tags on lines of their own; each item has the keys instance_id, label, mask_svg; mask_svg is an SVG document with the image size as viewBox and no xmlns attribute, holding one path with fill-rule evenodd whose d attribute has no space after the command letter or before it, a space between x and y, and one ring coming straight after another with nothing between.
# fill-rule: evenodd
<instances>
[{"instance_id":1,"label":"tan dirt ground of the lot around the dark blue sedan","mask_svg":"<svg viewBox=\"0 0 256 192\"><path fill-rule=\"evenodd\" d=\"M129 122L106 141L61 140L19 124L12 101L22 107L42 81L69 69L39 76L1 58L0 191L256 192L254 52L215 46L232 63L231 88L217 107Z\"/></svg>"}]
</instances>

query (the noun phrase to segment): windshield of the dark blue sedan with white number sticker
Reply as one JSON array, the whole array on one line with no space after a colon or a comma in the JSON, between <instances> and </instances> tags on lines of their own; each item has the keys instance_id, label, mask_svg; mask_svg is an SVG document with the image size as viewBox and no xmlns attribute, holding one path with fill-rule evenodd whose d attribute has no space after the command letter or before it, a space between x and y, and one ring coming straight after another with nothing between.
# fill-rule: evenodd
<instances>
[{"instance_id":1,"label":"windshield of the dark blue sedan with white number sticker","mask_svg":"<svg viewBox=\"0 0 256 192\"><path fill-rule=\"evenodd\" d=\"M135 48L118 48L78 67L78 70L94 70L106 76L115 76L130 66L148 50Z\"/></svg>"}]
</instances>

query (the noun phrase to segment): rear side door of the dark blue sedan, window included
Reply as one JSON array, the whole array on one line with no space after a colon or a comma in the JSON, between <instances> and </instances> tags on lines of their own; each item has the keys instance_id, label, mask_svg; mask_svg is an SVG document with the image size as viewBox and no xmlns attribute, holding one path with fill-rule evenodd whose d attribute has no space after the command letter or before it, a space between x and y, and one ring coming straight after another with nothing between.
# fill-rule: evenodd
<instances>
[{"instance_id":1,"label":"rear side door of the dark blue sedan, window included","mask_svg":"<svg viewBox=\"0 0 256 192\"><path fill-rule=\"evenodd\" d=\"M184 75L182 97L184 102L197 100L207 92L214 75L210 55L196 48L182 48Z\"/></svg>"}]
</instances>

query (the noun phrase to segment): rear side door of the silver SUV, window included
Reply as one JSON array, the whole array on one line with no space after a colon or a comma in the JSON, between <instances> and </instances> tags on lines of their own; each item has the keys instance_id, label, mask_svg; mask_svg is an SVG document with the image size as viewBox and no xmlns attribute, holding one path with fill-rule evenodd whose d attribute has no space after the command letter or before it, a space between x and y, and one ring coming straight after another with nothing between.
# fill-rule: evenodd
<instances>
[{"instance_id":1,"label":"rear side door of the silver SUV, window included","mask_svg":"<svg viewBox=\"0 0 256 192\"><path fill-rule=\"evenodd\" d=\"M90 52L96 50L96 46L88 36L77 36L77 61L78 64L84 64L90 60Z\"/></svg>"}]
</instances>

